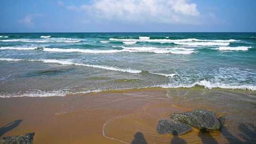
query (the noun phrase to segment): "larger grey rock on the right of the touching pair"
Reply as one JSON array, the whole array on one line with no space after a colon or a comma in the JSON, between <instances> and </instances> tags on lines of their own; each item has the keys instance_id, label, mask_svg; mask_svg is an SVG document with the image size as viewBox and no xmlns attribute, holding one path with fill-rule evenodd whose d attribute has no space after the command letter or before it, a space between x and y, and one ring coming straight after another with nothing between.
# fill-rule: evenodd
<instances>
[{"instance_id":1,"label":"larger grey rock on the right of the touching pair","mask_svg":"<svg viewBox=\"0 0 256 144\"><path fill-rule=\"evenodd\" d=\"M171 118L200 130L219 130L219 119L209 110L196 109L190 112L174 113Z\"/></svg>"}]
</instances>

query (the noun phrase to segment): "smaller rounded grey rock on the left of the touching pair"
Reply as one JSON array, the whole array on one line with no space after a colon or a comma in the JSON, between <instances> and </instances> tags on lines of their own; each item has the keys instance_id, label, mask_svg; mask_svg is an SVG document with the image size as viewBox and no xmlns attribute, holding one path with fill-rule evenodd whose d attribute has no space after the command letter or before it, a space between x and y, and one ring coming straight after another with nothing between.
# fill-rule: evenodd
<instances>
[{"instance_id":1,"label":"smaller rounded grey rock on the left of the touching pair","mask_svg":"<svg viewBox=\"0 0 256 144\"><path fill-rule=\"evenodd\" d=\"M191 131L191 126L174 120L161 119L158 122L156 131L159 134L183 135Z\"/></svg>"}]
</instances>

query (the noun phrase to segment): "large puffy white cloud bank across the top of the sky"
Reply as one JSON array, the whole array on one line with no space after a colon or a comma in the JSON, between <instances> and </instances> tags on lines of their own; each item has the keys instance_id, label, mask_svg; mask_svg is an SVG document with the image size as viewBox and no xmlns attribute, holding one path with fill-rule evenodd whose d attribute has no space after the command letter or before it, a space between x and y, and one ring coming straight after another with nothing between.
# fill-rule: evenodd
<instances>
[{"instance_id":1,"label":"large puffy white cloud bank across the top of the sky","mask_svg":"<svg viewBox=\"0 0 256 144\"><path fill-rule=\"evenodd\" d=\"M139 23L195 24L200 15L188 0L94 0L91 5L65 8L85 11L91 18Z\"/></svg>"}]
</instances>

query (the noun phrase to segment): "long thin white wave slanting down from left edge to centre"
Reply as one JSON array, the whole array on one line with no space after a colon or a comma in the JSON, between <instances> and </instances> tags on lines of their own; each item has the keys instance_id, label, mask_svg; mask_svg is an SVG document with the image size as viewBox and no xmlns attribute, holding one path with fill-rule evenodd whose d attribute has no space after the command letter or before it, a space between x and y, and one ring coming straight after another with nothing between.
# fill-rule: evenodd
<instances>
[{"instance_id":1,"label":"long thin white wave slanting down from left edge to centre","mask_svg":"<svg viewBox=\"0 0 256 144\"><path fill-rule=\"evenodd\" d=\"M44 63L59 63L59 64L68 64L68 65L78 65L78 66L86 66L86 67L93 67L93 68L100 68L100 69L105 69L105 70L128 72L128 73L140 73L140 72L142 72L140 70L121 69L121 68L110 67L110 66L73 63L71 60L55 60L55 59L27 60L27 59L0 58L0 61L40 61L40 62L44 62Z\"/></svg>"}]
</instances>

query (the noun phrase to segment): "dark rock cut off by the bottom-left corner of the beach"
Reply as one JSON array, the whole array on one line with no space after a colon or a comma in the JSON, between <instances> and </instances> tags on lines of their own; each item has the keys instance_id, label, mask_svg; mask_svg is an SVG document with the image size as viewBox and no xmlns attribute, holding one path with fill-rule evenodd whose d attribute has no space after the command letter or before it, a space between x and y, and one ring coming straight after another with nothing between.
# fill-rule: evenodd
<instances>
[{"instance_id":1,"label":"dark rock cut off by the bottom-left corner of the beach","mask_svg":"<svg viewBox=\"0 0 256 144\"><path fill-rule=\"evenodd\" d=\"M0 137L0 144L34 144L35 133Z\"/></svg>"}]
</instances>

